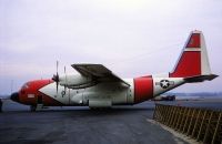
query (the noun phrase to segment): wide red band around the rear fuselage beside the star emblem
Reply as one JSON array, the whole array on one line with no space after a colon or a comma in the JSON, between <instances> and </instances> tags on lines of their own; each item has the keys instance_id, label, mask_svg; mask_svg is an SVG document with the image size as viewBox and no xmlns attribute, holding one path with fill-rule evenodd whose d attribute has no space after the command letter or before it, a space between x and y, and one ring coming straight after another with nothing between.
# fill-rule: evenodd
<instances>
[{"instance_id":1,"label":"wide red band around the rear fuselage beside the star emblem","mask_svg":"<svg viewBox=\"0 0 222 144\"><path fill-rule=\"evenodd\" d=\"M152 76L134 79L134 103L140 103L153 97Z\"/></svg>"}]
</instances>

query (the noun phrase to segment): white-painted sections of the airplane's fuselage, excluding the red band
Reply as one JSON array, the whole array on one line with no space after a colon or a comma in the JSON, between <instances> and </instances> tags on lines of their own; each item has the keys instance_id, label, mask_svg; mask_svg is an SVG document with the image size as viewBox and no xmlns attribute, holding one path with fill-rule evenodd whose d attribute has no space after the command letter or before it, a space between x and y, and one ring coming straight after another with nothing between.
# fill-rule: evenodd
<instances>
[{"instance_id":1,"label":"white-painted sections of the airplane's fuselage, excluding the red band","mask_svg":"<svg viewBox=\"0 0 222 144\"><path fill-rule=\"evenodd\" d=\"M153 96L157 96L165 91L169 91L184 83L180 78L152 78ZM160 86L161 80L169 80L171 84L163 89ZM112 105L134 104L134 79L125 79L130 86L120 85L122 83L99 83L85 89L64 89L59 85L58 92L56 83L50 83L39 91L63 105L89 105L90 107L109 107Z\"/></svg>"}]
</instances>

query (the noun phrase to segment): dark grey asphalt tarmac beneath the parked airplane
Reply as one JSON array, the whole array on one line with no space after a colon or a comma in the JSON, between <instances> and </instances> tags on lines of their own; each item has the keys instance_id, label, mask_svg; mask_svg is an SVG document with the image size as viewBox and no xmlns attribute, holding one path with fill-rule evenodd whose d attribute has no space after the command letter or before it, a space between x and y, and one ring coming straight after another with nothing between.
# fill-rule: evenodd
<instances>
[{"instance_id":1,"label":"dark grey asphalt tarmac beneath the parked airplane","mask_svg":"<svg viewBox=\"0 0 222 144\"><path fill-rule=\"evenodd\" d=\"M188 104L185 101L167 103ZM153 111L151 101L107 110L69 106L38 112L7 101L0 113L0 144L186 144L151 122Z\"/></svg>"}]
</instances>

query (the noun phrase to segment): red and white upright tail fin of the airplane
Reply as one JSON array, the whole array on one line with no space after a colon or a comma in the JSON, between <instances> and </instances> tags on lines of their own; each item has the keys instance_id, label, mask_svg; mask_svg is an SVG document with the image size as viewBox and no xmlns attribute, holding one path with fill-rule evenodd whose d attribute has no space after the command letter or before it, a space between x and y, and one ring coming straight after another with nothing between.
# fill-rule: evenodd
<instances>
[{"instance_id":1,"label":"red and white upright tail fin of the airplane","mask_svg":"<svg viewBox=\"0 0 222 144\"><path fill-rule=\"evenodd\" d=\"M203 33L192 31L170 78L211 75Z\"/></svg>"}]
</instances>

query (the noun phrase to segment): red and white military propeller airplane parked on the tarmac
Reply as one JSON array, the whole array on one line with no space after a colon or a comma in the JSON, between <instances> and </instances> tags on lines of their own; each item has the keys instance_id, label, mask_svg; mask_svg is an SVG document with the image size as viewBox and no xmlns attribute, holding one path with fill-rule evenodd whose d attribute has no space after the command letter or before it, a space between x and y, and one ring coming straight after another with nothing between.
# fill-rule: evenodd
<instances>
[{"instance_id":1,"label":"red and white military propeller airplane parked on the tarmac","mask_svg":"<svg viewBox=\"0 0 222 144\"><path fill-rule=\"evenodd\" d=\"M37 106L133 105L151 100L185 83L211 81L206 47L201 31L191 31L172 72L150 74L134 79L121 79L102 64L80 63L71 65L79 74L57 74L48 80L29 81L11 94L14 102ZM65 69L64 69L65 71Z\"/></svg>"}]
</instances>

